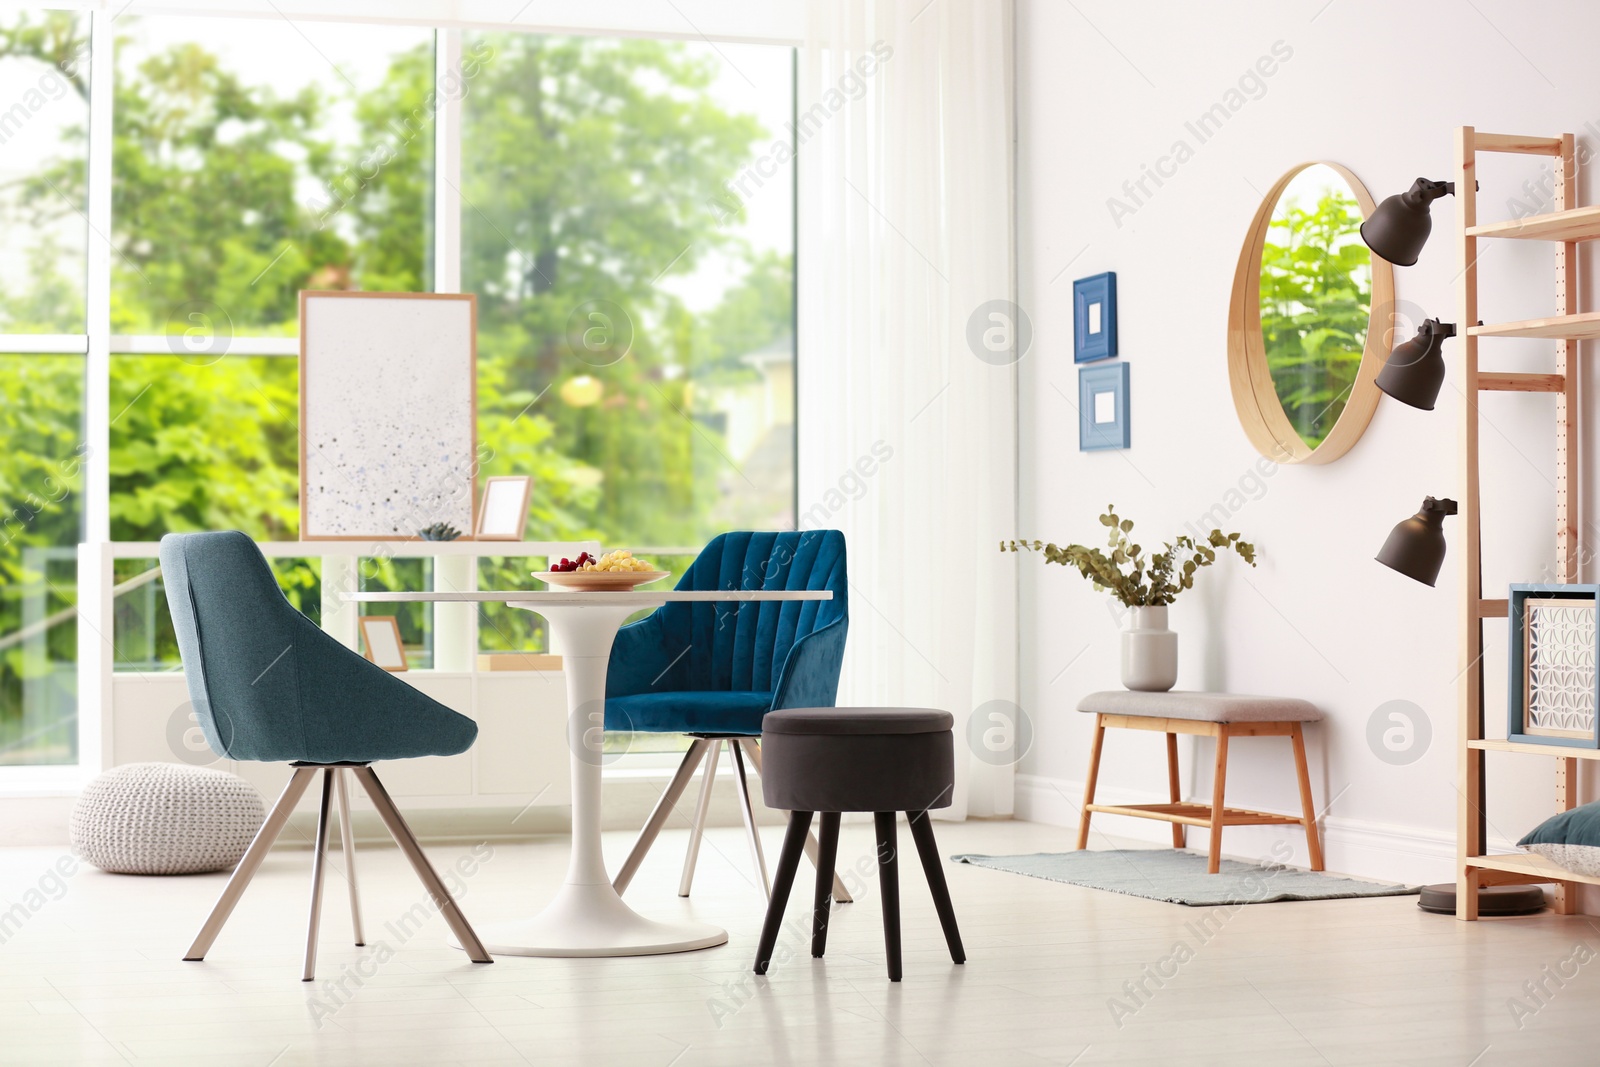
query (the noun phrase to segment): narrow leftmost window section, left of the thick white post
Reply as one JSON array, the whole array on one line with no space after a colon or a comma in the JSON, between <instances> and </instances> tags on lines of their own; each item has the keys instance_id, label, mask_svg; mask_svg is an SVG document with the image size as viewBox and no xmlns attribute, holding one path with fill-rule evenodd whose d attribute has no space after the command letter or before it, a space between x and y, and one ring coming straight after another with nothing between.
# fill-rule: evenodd
<instances>
[{"instance_id":1,"label":"narrow leftmost window section, left of the thick white post","mask_svg":"<svg viewBox=\"0 0 1600 1067\"><path fill-rule=\"evenodd\" d=\"M77 760L86 26L0 16L0 765Z\"/></svg>"}]
</instances>

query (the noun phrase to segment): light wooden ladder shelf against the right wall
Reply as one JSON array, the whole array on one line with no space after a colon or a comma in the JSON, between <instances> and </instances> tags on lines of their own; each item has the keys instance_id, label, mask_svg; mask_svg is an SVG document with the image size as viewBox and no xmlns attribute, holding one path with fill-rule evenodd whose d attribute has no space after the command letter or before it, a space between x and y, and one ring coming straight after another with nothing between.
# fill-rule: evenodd
<instances>
[{"instance_id":1,"label":"light wooden ladder shelf against the right wall","mask_svg":"<svg viewBox=\"0 0 1600 1067\"><path fill-rule=\"evenodd\" d=\"M1547 155L1555 168L1555 210L1507 222L1478 226L1477 154L1515 152ZM1555 912L1576 909L1576 883L1600 885L1555 867L1541 856L1488 854L1488 819L1483 813L1485 753L1515 752L1550 758L1538 744L1483 737L1483 619L1504 619L1506 600L1483 598L1482 509L1478 502L1478 394L1547 392L1555 395L1555 560L1558 581L1578 581L1578 342L1600 338L1600 312L1578 312L1578 242L1600 238L1600 206L1579 208L1574 136L1522 138L1478 133L1462 126L1456 141L1456 213L1461 235L1461 357L1466 374L1462 405L1462 506L1461 595L1462 635L1459 681L1461 742L1458 749L1459 803L1456 817L1456 918L1478 917L1478 889L1493 885L1555 883ZM1478 238L1547 240L1555 243L1555 315L1525 322L1483 325L1478 320ZM1474 325L1477 323L1477 325ZM1478 371L1480 338L1549 338L1555 346L1554 374L1486 374ZM1555 750L1555 809L1578 803L1578 760L1600 758L1600 750Z\"/></svg>"}]
</instances>

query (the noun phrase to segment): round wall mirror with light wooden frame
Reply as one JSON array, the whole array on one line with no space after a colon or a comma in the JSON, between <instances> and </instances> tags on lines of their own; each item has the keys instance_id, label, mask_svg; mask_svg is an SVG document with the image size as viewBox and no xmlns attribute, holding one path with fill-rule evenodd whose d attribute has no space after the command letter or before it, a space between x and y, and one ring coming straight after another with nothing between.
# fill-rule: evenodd
<instances>
[{"instance_id":1,"label":"round wall mirror with light wooden frame","mask_svg":"<svg viewBox=\"0 0 1600 1067\"><path fill-rule=\"evenodd\" d=\"M1301 163L1267 192L1234 274L1227 371L1256 450L1330 462L1362 437L1379 392L1394 269L1362 243L1373 198L1338 163Z\"/></svg>"}]
</instances>

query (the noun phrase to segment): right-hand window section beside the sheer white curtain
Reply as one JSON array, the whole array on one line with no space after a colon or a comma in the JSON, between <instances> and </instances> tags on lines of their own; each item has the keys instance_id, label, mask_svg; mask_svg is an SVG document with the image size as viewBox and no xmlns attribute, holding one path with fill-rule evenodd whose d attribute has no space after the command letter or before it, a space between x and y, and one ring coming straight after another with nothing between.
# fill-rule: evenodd
<instances>
[{"instance_id":1,"label":"right-hand window section beside the sheer white curtain","mask_svg":"<svg viewBox=\"0 0 1600 1067\"><path fill-rule=\"evenodd\" d=\"M698 547L790 528L794 190L787 168L730 189L790 120L789 51L462 45L461 285L478 294L486 474L534 475L533 537ZM485 566L485 587L515 581ZM531 624L493 606L485 621L485 648Z\"/></svg>"}]
</instances>

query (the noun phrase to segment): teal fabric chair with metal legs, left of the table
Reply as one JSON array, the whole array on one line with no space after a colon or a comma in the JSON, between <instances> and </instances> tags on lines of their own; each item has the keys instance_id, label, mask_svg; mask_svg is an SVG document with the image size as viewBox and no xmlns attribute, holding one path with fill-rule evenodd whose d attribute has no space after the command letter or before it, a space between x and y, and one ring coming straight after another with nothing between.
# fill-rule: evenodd
<instances>
[{"instance_id":1,"label":"teal fabric chair with metal legs, left of the table","mask_svg":"<svg viewBox=\"0 0 1600 1067\"><path fill-rule=\"evenodd\" d=\"M488 952L429 864L416 835L370 766L374 760L456 755L477 723L400 681L314 625L285 600L261 549L242 533L166 534L162 581L195 718L229 760L290 763L294 774L222 889L186 960L203 960L245 888L322 771L304 981L317 963L328 814L339 793L355 944L363 944L344 771L365 787L384 825L475 963ZM354 606L352 606L354 609Z\"/></svg>"}]
</instances>

